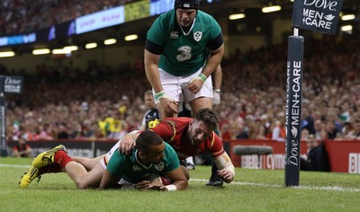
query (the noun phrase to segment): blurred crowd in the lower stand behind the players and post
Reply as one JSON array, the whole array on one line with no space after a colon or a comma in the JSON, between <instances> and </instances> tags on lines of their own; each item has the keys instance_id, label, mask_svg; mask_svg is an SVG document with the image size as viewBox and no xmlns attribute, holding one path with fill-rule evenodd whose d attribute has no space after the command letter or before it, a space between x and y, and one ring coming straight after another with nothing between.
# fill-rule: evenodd
<instances>
[{"instance_id":1,"label":"blurred crowd in the lower stand behind the players and post","mask_svg":"<svg viewBox=\"0 0 360 212\"><path fill-rule=\"evenodd\" d=\"M360 139L360 39L305 40L302 135ZM223 139L284 141L287 43L223 59ZM142 68L41 64L22 95L6 95L8 139L118 139L140 128L150 85ZM0 74L14 73L0 66Z\"/></svg>"}]
</instances>

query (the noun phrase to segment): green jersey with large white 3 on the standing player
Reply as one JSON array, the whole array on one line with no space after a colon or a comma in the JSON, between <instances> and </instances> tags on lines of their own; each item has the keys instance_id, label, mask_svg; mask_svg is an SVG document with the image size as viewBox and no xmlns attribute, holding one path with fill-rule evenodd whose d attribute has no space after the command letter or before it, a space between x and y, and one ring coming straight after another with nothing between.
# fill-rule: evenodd
<instances>
[{"instance_id":1,"label":"green jersey with large white 3 on the standing player","mask_svg":"<svg viewBox=\"0 0 360 212\"><path fill-rule=\"evenodd\" d=\"M220 33L219 23L210 14L199 10L193 29L186 35L172 9L157 18L148 30L147 39L163 46L159 68L171 75L191 75L204 66L208 42Z\"/></svg>"}]
</instances>

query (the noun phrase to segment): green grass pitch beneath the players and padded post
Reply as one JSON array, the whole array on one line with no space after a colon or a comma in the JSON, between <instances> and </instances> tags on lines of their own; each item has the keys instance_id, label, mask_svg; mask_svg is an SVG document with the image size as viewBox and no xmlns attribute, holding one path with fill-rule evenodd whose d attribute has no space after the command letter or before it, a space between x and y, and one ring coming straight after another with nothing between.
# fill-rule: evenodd
<instances>
[{"instance_id":1,"label":"green grass pitch beneath the players and padded post","mask_svg":"<svg viewBox=\"0 0 360 212\"><path fill-rule=\"evenodd\" d=\"M205 186L210 166L196 166L184 191L78 190L66 173L44 174L20 189L31 159L0 158L0 211L359 211L360 176L301 172L284 186L284 171L237 168L222 188Z\"/></svg>"}]
</instances>

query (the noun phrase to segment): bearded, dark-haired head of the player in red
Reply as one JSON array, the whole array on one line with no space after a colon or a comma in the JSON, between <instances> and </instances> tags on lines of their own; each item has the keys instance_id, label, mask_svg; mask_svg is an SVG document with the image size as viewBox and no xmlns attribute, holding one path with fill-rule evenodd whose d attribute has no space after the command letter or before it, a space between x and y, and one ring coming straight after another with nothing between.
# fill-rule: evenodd
<instances>
[{"instance_id":1,"label":"bearded, dark-haired head of the player in red","mask_svg":"<svg viewBox=\"0 0 360 212\"><path fill-rule=\"evenodd\" d=\"M213 130L219 127L219 117L214 110L199 110L190 122L187 137L193 146L201 144L211 136Z\"/></svg>"}]
</instances>

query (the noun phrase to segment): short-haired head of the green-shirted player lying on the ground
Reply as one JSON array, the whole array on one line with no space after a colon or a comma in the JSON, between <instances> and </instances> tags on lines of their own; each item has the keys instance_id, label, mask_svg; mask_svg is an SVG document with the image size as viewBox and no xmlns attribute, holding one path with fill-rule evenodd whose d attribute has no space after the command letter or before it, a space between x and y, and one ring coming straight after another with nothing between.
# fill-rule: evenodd
<instances>
[{"instance_id":1,"label":"short-haired head of the green-shirted player lying on the ground","mask_svg":"<svg viewBox=\"0 0 360 212\"><path fill-rule=\"evenodd\" d=\"M164 158L165 143L157 133L146 130L136 139L139 159L142 163L160 163Z\"/></svg>"}]
</instances>

